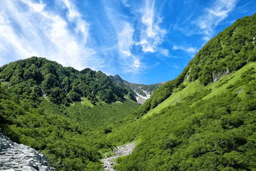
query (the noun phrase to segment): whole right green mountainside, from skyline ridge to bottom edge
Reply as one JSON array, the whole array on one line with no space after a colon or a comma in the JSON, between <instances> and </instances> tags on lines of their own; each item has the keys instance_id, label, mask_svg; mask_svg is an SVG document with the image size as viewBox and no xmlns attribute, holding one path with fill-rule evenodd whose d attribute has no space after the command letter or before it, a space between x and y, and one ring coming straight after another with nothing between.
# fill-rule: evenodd
<instances>
[{"instance_id":1,"label":"whole right green mountainside, from skyline ridge to bottom edge","mask_svg":"<svg viewBox=\"0 0 256 171\"><path fill-rule=\"evenodd\" d=\"M256 14L204 45L154 91L136 122L108 139L137 145L116 171L253 171L256 168Z\"/></svg>"}]
</instances>

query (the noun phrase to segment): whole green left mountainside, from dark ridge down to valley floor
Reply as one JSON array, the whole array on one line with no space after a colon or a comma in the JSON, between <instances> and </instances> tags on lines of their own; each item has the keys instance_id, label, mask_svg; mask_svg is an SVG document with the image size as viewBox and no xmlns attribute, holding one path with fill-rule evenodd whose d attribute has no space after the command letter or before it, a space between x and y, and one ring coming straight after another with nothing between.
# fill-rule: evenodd
<instances>
[{"instance_id":1,"label":"whole green left mountainside, from dark ridge down to valley floor","mask_svg":"<svg viewBox=\"0 0 256 171\"><path fill-rule=\"evenodd\" d=\"M139 106L128 94L100 71L37 57L15 61L0 67L0 130L57 170L103 171L99 159L114 148L106 134Z\"/></svg>"}]
</instances>

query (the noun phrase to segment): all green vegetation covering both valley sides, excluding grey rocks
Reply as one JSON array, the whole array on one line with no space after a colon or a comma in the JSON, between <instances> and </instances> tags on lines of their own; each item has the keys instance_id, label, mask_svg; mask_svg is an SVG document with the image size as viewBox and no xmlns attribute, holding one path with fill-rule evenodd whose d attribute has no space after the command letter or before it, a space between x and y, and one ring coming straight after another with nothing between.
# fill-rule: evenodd
<instances>
[{"instance_id":1,"label":"all green vegetation covering both valley sides, excluding grey rocks","mask_svg":"<svg viewBox=\"0 0 256 171\"><path fill-rule=\"evenodd\" d=\"M103 171L99 159L128 142L136 148L116 171L256 171L255 37L256 14L237 20L141 106L100 71L37 57L6 64L1 131L58 171Z\"/></svg>"}]
</instances>

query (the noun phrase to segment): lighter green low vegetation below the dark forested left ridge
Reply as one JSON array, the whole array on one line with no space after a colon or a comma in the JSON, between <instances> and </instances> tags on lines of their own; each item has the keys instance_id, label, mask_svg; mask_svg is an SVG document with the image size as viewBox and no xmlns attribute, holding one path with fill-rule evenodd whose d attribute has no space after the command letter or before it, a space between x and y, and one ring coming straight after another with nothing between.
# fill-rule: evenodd
<instances>
[{"instance_id":1,"label":"lighter green low vegetation below the dark forested left ridge","mask_svg":"<svg viewBox=\"0 0 256 171\"><path fill-rule=\"evenodd\" d=\"M19 84L9 84L0 84L1 132L45 154L60 171L103 171L99 159L113 149L106 135L124 118L134 117L139 106L130 99L111 104L98 100L97 105L84 99L85 104L59 105L52 102L56 99L30 92L34 87L18 89ZM17 95L14 89L23 93Z\"/></svg>"}]
</instances>

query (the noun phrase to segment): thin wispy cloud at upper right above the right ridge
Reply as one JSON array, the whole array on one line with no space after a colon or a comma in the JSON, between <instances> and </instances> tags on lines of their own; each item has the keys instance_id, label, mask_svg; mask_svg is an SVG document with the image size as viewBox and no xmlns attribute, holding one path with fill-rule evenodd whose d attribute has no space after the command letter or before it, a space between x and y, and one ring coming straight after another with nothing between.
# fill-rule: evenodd
<instances>
[{"instance_id":1,"label":"thin wispy cloud at upper right above the right ridge","mask_svg":"<svg viewBox=\"0 0 256 171\"><path fill-rule=\"evenodd\" d=\"M215 28L232 12L239 0L214 0L203 9L196 9L191 15L176 23L175 30L180 30L186 36L201 35L204 41L209 41L215 34Z\"/></svg>"}]
</instances>

